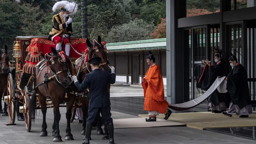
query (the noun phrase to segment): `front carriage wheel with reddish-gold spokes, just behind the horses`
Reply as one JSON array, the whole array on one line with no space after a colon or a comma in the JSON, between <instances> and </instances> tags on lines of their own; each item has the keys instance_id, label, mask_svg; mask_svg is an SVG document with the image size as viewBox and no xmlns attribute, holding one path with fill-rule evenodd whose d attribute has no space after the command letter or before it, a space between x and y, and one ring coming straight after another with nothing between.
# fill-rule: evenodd
<instances>
[{"instance_id":1,"label":"front carriage wheel with reddish-gold spokes, just behind the horses","mask_svg":"<svg viewBox=\"0 0 256 144\"><path fill-rule=\"evenodd\" d=\"M24 108L24 118L25 118L26 129L28 132L30 132L31 130L31 118L29 117L29 111L28 111L29 103L30 103L30 96L28 94L28 87L25 86L24 92L23 92L23 108Z\"/></svg>"}]
</instances>

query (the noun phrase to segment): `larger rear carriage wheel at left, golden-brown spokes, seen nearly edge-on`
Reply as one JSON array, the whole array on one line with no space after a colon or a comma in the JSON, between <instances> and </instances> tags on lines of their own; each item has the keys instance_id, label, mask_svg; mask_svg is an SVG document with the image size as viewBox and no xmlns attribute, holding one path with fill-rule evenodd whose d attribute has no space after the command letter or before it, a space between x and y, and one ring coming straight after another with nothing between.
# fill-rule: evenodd
<instances>
[{"instance_id":1,"label":"larger rear carriage wheel at left, golden-brown spokes, seen nearly edge-on","mask_svg":"<svg viewBox=\"0 0 256 144\"><path fill-rule=\"evenodd\" d=\"M8 75L7 96L8 96L8 99L9 99L8 100L8 110L9 110L10 123L14 124L16 104L15 104L15 101L13 100L13 99L15 99L15 90L14 90L12 74Z\"/></svg>"}]
</instances>

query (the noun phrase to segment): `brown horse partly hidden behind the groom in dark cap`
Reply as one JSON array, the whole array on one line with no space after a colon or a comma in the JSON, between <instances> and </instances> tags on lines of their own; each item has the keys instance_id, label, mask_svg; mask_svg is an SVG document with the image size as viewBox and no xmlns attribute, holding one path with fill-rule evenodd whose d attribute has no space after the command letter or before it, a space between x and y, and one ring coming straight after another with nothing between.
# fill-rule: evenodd
<instances>
[{"instance_id":1,"label":"brown horse partly hidden behind the groom in dark cap","mask_svg":"<svg viewBox=\"0 0 256 144\"><path fill-rule=\"evenodd\" d=\"M89 48L88 52L88 59L92 57L100 57L101 58L101 69L102 70L108 70L110 72L110 68L108 67L108 58L107 58L107 49L105 48L105 44L101 42L101 37L98 36L98 40L96 41L95 39L90 42L88 39L86 40L86 44ZM86 74L90 73L92 71L92 68L88 62L85 61L85 56L82 56L80 58L80 62L78 62L75 65L75 71L77 74L78 81L81 83L84 80L84 77ZM110 94L110 84L108 85L108 93ZM89 96L89 93L87 94ZM88 117L88 108L89 108L89 100L87 98L80 97L81 103L82 103L82 111L83 111L83 130L81 132L81 135L85 134L85 128L86 128L86 119ZM102 139L109 139L108 136L108 128L107 125L104 125L104 133L101 128L101 121L100 121L100 113L97 116L97 134L98 135L103 135ZM85 135L84 139L85 140Z\"/></svg>"}]
</instances>

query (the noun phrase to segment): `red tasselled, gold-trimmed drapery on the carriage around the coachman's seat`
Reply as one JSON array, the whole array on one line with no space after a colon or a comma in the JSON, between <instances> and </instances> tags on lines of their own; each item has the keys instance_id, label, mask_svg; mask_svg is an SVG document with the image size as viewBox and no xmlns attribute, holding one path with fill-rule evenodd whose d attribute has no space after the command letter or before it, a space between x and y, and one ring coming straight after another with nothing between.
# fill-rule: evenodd
<instances>
[{"instance_id":1,"label":"red tasselled, gold-trimmed drapery on the carriage around the coachman's seat","mask_svg":"<svg viewBox=\"0 0 256 144\"><path fill-rule=\"evenodd\" d=\"M85 53L85 49L87 48L86 38L73 40L70 42L70 44L73 46L73 48L77 52L81 54ZM41 56L41 53L43 54L51 53L51 47L54 47L56 49L56 44L54 44L54 42L49 40L33 38L31 40L31 43L26 49L26 51L28 52L28 55L25 59L26 63L23 67L23 73L33 74L36 64L41 59L43 59L43 57ZM73 48L72 47L70 48L69 57L71 59L78 59L79 57L81 57L81 55L76 53L73 50ZM65 46L62 46L62 51L65 52Z\"/></svg>"}]
</instances>

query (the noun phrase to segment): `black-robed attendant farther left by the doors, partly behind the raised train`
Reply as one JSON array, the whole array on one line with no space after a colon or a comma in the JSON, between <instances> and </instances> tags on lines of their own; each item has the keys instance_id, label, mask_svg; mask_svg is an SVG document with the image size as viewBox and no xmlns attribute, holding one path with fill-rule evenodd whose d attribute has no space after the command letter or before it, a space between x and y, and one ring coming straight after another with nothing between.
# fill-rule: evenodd
<instances>
[{"instance_id":1,"label":"black-robed attendant farther left by the doors, partly behind the raised train","mask_svg":"<svg viewBox=\"0 0 256 144\"><path fill-rule=\"evenodd\" d=\"M207 91L212 86L216 78L223 75L221 53L214 55L214 62L215 65L211 66L211 61L204 61L204 70L197 84L197 86L200 86L202 90ZM221 113L226 110L227 106L225 105L225 97L223 93L215 90L208 98L208 106L212 110L212 113Z\"/></svg>"}]
</instances>

